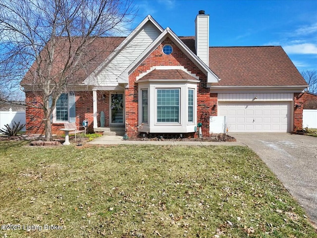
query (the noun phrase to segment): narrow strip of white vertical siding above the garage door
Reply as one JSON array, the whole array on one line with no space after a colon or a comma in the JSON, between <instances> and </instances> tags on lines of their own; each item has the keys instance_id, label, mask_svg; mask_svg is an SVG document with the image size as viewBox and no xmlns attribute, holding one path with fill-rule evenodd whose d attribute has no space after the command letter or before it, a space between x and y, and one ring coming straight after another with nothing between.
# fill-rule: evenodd
<instances>
[{"instance_id":1,"label":"narrow strip of white vertical siding above the garage door","mask_svg":"<svg viewBox=\"0 0 317 238\"><path fill-rule=\"evenodd\" d=\"M257 99L255 99L257 98ZM218 101L293 101L294 93L218 93Z\"/></svg>"}]
</instances>

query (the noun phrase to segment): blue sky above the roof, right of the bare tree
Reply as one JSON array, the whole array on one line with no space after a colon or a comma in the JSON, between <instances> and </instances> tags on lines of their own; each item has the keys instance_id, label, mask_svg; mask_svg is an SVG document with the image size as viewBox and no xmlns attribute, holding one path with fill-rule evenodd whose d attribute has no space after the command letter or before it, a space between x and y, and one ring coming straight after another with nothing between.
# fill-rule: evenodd
<instances>
[{"instance_id":1,"label":"blue sky above the roof, right of the bare tree","mask_svg":"<svg viewBox=\"0 0 317 238\"><path fill-rule=\"evenodd\" d=\"M280 45L299 71L317 70L317 0L134 0L178 36L195 35L199 10L210 15L210 46Z\"/></svg>"}]
</instances>

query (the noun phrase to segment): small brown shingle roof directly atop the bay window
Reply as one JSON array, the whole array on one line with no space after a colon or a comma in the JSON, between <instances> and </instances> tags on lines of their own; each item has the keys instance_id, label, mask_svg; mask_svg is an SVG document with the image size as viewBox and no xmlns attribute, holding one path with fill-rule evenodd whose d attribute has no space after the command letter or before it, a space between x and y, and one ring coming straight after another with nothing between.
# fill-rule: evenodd
<instances>
[{"instance_id":1,"label":"small brown shingle roof directly atop the bay window","mask_svg":"<svg viewBox=\"0 0 317 238\"><path fill-rule=\"evenodd\" d=\"M186 73L181 69L154 69L153 71L147 73L138 81L149 80L149 79L191 79L197 80L197 78Z\"/></svg>"}]
</instances>

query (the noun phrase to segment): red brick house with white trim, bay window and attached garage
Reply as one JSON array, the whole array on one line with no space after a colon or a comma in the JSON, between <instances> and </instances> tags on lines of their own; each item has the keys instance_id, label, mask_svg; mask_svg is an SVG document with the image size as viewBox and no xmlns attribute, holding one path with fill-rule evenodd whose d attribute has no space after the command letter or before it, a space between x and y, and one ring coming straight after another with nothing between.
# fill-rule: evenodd
<instances>
[{"instance_id":1,"label":"red brick house with white trim, bay window and attached garage","mask_svg":"<svg viewBox=\"0 0 317 238\"><path fill-rule=\"evenodd\" d=\"M178 37L149 15L128 37L115 38L115 50L87 74L77 72L82 84L60 96L52 131L60 132L65 121L79 125L86 119L90 131L123 127L129 136L196 136L200 122L208 135L211 116L226 116L230 132L302 128L308 85L283 49L209 47L209 19L200 11L195 36ZM108 46L109 39L99 38L92 51ZM38 103L27 81L21 85L26 101ZM43 118L41 110L27 108L27 132L43 133Z\"/></svg>"}]
</instances>

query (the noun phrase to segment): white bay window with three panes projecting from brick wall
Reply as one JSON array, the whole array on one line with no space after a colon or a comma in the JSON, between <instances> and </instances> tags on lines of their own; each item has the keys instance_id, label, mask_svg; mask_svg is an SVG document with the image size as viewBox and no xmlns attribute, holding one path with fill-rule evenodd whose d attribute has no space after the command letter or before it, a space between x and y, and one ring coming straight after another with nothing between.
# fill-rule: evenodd
<instances>
[{"instance_id":1,"label":"white bay window with three panes projecting from brick wall","mask_svg":"<svg viewBox=\"0 0 317 238\"><path fill-rule=\"evenodd\" d=\"M150 79L138 83L139 132L195 132L197 81Z\"/></svg>"}]
</instances>

